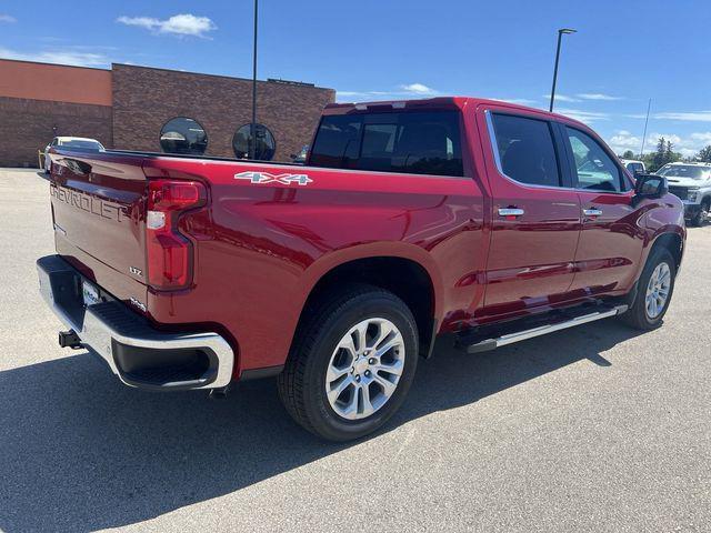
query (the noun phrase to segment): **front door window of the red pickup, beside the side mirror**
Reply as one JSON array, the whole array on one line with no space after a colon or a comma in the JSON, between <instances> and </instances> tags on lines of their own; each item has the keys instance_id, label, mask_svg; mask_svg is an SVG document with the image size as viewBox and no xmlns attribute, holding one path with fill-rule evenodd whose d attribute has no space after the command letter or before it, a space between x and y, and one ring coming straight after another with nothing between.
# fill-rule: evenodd
<instances>
[{"instance_id":1,"label":"front door window of the red pickup, beside the side mirror","mask_svg":"<svg viewBox=\"0 0 711 533\"><path fill-rule=\"evenodd\" d=\"M565 127L574 158L578 188L595 191L622 191L620 169L608 152L587 133Z\"/></svg>"}]
</instances>

